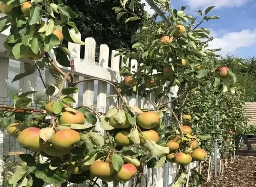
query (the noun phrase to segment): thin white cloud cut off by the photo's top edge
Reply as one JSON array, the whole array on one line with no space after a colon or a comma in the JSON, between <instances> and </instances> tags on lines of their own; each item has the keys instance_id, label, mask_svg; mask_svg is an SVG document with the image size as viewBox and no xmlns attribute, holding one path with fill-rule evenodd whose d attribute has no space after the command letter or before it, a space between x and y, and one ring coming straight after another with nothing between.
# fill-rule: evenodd
<instances>
[{"instance_id":1,"label":"thin white cloud cut off by the photo's top edge","mask_svg":"<svg viewBox=\"0 0 256 187\"><path fill-rule=\"evenodd\" d=\"M182 0L191 9L207 8L208 6L215 6L215 8L221 7L239 7L243 6L250 0Z\"/></svg>"}]
</instances>

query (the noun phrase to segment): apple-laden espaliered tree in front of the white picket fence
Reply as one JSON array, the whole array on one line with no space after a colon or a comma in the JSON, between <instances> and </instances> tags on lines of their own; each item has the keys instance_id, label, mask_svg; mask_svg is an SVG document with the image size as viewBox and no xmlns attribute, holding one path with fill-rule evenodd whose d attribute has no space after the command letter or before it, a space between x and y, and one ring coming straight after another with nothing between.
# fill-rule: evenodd
<instances>
[{"instance_id":1,"label":"apple-laden espaliered tree in front of the white picket fence","mask_svg":"<svg viewBox=\"0 0 256 187\"><path fill-rule=\"evenodd\" d=\"M169 24L149 22L147 12L144 17L135 15L133 0L129 4L127 0L120 1L121 6L113 8L117 19L125 13L131 15L126 23L135 20L148 22L133 38L133 41L144 38L143 42L134 44L132 50L120 49L117 55L122 55L124 60L137 59L139 62L153 59L166 66L154 75L146 65L133 72L122 67L120 74L125 79L118 87L97 79L116 90L116 94L108 98L116 97L120 101L100 116L92 108L72 106L75 103L72 96L79 91L76 86L93 80L74 81L74 62L69 61L70 51L62 44L65 40L84 45L70 32L73 28L78 33L75 23L70 21L76 17L75 13L61 0L1 1L0 11L5 17L1 18L0 30L3 32L10 27L10 34L4 42L6 54L34 61L26 65L25 72L15 76L12 82L37 70L47 96L33 101L42 105L40 110L30 108L32 99L27 97L36 91L14 93L13 107L1 107L1 127L17 138L21 147L32 152L19 154L19 165L10 184L40 187L50 183L65 187L67 182L86 181L91 186L100 186L97 180L101 179L106 187L109 181L123 184L137 175L136 187L139 187L145 164L160 168L168 161L181 165L175 179L176 185L181 186L186 178L184 166L205 159L207 152L201 145L212 141L212 136L205 134L206 129L197 128L196 124L205 119L210 123L211 119L205 117L205 111L194 111L193 103L200 106L200 93L195 90L209 91L211 97L229 91L236 94L236 88L232 86L235 75L226 67L220 67L213 51L205 49L207 45L201 42L209 38L210 31L199 26L219 17L208 16L214 8L211 6L204 15L201 10L197 11L202 20L196 23L196 18L186 15L184 10L171 9L164 1L156 3L169 12ZM57 62L49 55L51 49ZM71 72L63 72L57 64L71 67ZM47 66L53 68L55 85L46 85L43 81L41 71ZM66 82L68 88L64 88ZM177 97L171 100L166 94L176 85L179 87ZM150 102L155 109L128 106L124 94L131 96L133 93L140 97L154 94L157 99ZM169 107L169 103L174 103L175 107ZM168 125L163 121L166 112L173 115ZM97 120L105 129L104 136L93 130ZM40 155L47 159L40 161ZM199 175L196 170L192 173ZM198 180L197 185L200 183Z\"/></svg>"}]
</instances>

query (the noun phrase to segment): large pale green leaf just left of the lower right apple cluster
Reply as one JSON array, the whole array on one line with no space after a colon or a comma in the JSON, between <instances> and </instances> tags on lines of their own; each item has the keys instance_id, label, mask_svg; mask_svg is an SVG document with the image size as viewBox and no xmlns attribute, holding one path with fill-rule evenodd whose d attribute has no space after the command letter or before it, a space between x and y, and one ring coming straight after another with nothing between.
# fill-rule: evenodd
<instances>
[{"instance_id":1,"label":"large pale green leaf just left of the lower right apple cluster","mask_svg":"<svg viewBox=\"0 0 256 187\"><path fill-rule=\"evenodd\" d=\"M169 147L163 147L158 144L156 144L154 141L146 140L144 146L149 150L152 157L158 158L162 157L165 154L169 153Z\"/></svg>"}]
</instances>

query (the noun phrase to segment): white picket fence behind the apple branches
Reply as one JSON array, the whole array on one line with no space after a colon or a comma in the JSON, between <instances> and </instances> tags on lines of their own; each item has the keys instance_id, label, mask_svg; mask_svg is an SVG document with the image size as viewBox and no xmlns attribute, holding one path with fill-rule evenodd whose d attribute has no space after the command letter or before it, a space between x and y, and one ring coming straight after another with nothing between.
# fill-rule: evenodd
<instances>
[{"instance_id":1,"label":"white picket fence behind the apple branches","mask_svg":"<svg viewBox=\"0 0 256 187\"><path fill-rule=\"evenodd\" d=\"M14 57L7 57L4 53L5 48L3 46L3 42L5 41L6 36L9 34L9 30L5 30L0 34L0 105L6 104L7 106L11 106L10 94L8 94L8 89L11 88L10 83L15 74L24 72L24 64L25 63L33 63L32 61L27 61L24 59L19 59L16 61ZM81 35L77 35L78 38L81 38ZM121 66L135 66L134 69L137 69L138 63L136 60L131 60L130 62L123 62L120 57L114 57L117 53L115 50L111 51L111 66L108 67L109 62L109 53L110 50L107 45L103 44L100 46L100 55L99 62L95 62L95 40L93 38L85 39L85 56L83 59L80 59L80 48L81 46L78 44L69 43L68 49L71 51L70 60L74 60L74 70L75 70L75 80L81 80L85 78L100 78L107 80L113 84L117 84L123 80L123 77L119 74L119 64ZM55 59L54 53L51 53L51 57ZM16 66L20 71L18 72L10 72L8 71L10 67ZM59 66L63 71L69 72L70 68ZM43 77L46 84L54 84L55 80L52 75L49 73L48 69L46 69L43 73ZM156 70L153 73L157 73ZM18 88L18 92L28 92L28 91L43 91L43 86L37 72L34 74L25 77L14 83ZM81 83L79 85L79 93L74 94L75 100L78 102L78 105L87 105L92 106L97 109L97 111L105 112L111 105L116 105L117 101L115 99L107 99L107 95L115 94L115 90L110 88L104 82L98 81L87 81ZM171 88L171 93L167 95L169 98L175 97L177 94L178 87ZM32 99L36 98L36 94L30 95ZM151 99L154 100L154 95L150 95ZM132 95L130 97L126 97L127 102L130 106L138 105L141 108L152 109L153 106L149 102L147 98L141 98L138 95ZM96 130L100 132L104 132L104 129L97 123ZM0 132L0 156L9 151L24 151L14 138L10 137L6 132ZM15 157L17 159L17 157ZM14 159L13 161L17 161ZM0 165L3 165L3 161L0 159ZM192 166L196 167L196 163ZM169 183L172 183L176 172L176 164L170 164L170 177ZM149 186L163 186L163 168L159 169L147 169L146 166L144 168L144 175L142 180L142 187ZM0 169L1 172L1 169ZM98 180L99 182L99 180ZM134 180L135 182L135 180ZM1 177L0 177L1 184ZM51 185L47 185L49 187ZM80 186L86 186L80 185ZM109 186L113 186L112 183L109 183ZM132 181L127 182L125 187L133 187Z\"/></svg>"}]
</instances>

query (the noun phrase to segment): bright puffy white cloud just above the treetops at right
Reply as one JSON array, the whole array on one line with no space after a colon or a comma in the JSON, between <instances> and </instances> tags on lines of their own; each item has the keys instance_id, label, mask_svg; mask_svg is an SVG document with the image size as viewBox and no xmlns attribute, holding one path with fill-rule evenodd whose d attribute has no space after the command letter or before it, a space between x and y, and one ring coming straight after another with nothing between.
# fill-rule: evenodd
<instances>
[{"instance_id":1,"label":"bright puffy white cloud just above the treetops at right","mask_svg":"<svg viewBox=\"0 0 256 187\"><path fill-rule=\"evenodd\" d=\"M215 31L214 31L215 32ZM218 36L218 33L214 33ZM256 44L256 29L245 29L241 32L229 32L223 35L223 37L216 37L209 43L209 49L222 48L220 52L216 54L226 55L233 53L235 50L241 47L250 47Z\"/></svg>"}]
</instances>

